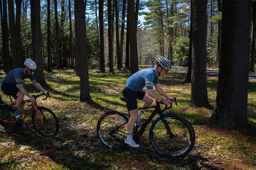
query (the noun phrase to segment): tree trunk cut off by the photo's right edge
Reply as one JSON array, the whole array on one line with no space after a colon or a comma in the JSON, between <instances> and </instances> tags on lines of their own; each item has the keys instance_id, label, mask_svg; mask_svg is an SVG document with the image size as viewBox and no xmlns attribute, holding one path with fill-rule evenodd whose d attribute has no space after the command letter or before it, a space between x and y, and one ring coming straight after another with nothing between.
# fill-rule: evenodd
<instances>
[{"instance_id":1,"label":"tree trunk cut off by the photo's right edge","mask_svg":"<svg viewBox=\"0 0 256 170\"><path fill-rule=\"evenodd\" d=\"M249 71L251 72L254 72L255 38L256 38L256 1L252 2L252 37L251 37L250 66L249 66Z\"/></svg>"}]
</instances>

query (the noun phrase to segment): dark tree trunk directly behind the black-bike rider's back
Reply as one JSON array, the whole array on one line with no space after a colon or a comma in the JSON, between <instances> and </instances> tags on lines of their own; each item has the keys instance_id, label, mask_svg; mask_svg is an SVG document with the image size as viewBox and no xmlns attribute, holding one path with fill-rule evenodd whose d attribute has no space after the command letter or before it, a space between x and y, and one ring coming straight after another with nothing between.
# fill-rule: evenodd
<instances>
[{"instance_id":1,"label":"dark tree trunk directly behind the black-bike rider's back","mask_svg":"<svg viewBox=\"0 0 256 170\"><path fill-rule=\"evenodd\" d=\"M133 74L139 70L138 66L138 49L137 49L137 21L134 12L134 0L129 0L127 5L129 15L129 39L130 39L130 70Z\"/></svg>"}]
</instances>

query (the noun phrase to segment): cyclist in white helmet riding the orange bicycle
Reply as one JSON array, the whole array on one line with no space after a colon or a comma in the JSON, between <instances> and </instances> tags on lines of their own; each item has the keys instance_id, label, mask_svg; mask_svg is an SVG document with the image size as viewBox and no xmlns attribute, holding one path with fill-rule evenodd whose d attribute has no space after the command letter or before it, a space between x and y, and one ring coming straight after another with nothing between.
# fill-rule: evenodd
<instances>
[{"instance_id":1,"label":"cyclist in white helmet riding the orange bicycle","mask_svg":"<svg viewBox=\"0 0 256 170\"><path fill-rule=\"evenodd\" d=\"M22 80L29 78L38 90L47 95L47 91L44 90L39 83L37 83L34 75L32 74L36 68L36 63L27 58L24 62L23 68L12 69L1 82L2 92L15 98L15 104L11 115L16 119L22 119L23 107L25 103L21 103L21 101L25 95L30 99L31 102L36 101L36 99L23 87ZM23 128L26 128L26 126Z\"/></svg>"}]
</instances>

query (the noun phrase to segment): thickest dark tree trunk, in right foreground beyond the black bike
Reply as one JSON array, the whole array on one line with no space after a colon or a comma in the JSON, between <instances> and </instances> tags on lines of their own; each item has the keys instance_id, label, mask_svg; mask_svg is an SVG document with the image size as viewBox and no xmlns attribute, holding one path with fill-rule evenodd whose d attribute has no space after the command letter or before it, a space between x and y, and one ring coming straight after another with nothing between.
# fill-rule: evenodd
<instances>
[{"instance_id":1,"label":"thickest dark tree trunk, in right foreground beyond the black bike","mask_svg":"<svg viewBox=\"0 0 256 170\"><path fill-rule=\"evenodd\" d=\"M210 117L220 127L246 127L251 0L222 2L222 42L216 105Z\"/></svg>"}]
</instances>

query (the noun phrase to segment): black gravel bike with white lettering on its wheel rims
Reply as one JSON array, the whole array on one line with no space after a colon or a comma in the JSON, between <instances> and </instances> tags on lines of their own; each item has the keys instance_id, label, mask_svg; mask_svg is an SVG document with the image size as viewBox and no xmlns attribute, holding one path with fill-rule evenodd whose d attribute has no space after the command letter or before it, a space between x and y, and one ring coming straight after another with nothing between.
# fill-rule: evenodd
<instances>
[{"instance_id":1,"label":"black gravel bike with white lettering on its wheel rims","mask_svg":"<svg viewBox=\"0 0 256 170\"><path fill-rule=\"evenodd\" d=\"M125 102L124 98L120 98ZM177 105L176 98L174 98ZM156 100L156 105L142 107L140 109L155 108L147 120L142 121L142 127L139 129L134 125L133 140L139 143L146 127L156 114L159 117L152 123L149 130L149 141L155 151L169 158L181 158L186 156L192 150L195 143L195 132L193 126L184 117L177 114L163 114L168 107L164 103ZM97 135L100 141L107 147L124 148L127 137L128 118L123 113L109 111L104 113L97 123ZM139 130L138 130L139 129Z\"/></svg>"}]
</instances>

